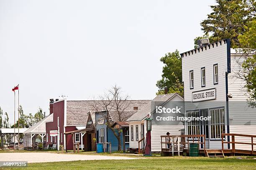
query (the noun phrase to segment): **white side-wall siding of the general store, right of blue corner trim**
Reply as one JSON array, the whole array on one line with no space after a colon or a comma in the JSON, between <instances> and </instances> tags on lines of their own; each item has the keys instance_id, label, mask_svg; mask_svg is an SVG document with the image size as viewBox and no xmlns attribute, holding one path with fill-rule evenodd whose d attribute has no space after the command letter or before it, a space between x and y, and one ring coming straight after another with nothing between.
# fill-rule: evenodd
<instances>
[{"instance_id":1,"label":"white side-wall siding of the general store, right of blue corner trim","mask_svg":"<svg viewBox=\"0 0 256 170\"><path fill-rule=\"evenodd\" d=\"M229 98L230 133L256 135L256 108L246 103L245 81L235 77L239 70L237 62L243 60L241 54L231 54L231 73L228 75L228 93L232 94ZM251 143L251 138L236 137L235 141ZM236 144L236 149L251 150L251 145Z\"/></svg>"}]
</instances>

